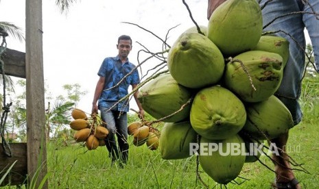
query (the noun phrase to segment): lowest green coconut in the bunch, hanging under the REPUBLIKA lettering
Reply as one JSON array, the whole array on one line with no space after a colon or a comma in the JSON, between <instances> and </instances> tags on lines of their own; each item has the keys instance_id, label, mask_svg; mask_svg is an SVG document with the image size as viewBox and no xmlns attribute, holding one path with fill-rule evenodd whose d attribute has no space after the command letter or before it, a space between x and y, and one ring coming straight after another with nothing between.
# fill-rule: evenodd
<instances>
[{"instance_id":1,"label":"lowest green coconut in the bunch, hanging under the REPUBLIKA lettering","mask_svg":"<svg viewBox=\"0 0 319 189\"><path fill-rule=\"evenodd\" d=\"M233 181L244 166L244 140L235 135L225 140L200 139L200 166L214 181L228 184ZM217 148L209 149L209 145L217 144ZM202 153L204 152L204 153Z\"/></svg>"}]
</instances>

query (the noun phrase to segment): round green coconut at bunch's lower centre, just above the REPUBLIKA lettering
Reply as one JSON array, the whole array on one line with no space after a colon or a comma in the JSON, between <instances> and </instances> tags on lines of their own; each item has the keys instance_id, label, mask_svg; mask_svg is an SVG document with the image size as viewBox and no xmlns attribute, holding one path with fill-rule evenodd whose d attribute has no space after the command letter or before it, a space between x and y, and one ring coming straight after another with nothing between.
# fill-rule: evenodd
<instances>
[{"instance_id":1,"label":"round green coconut at bunch's lower centre, just above the REPUBLIKA lettering","mask_svg":"<svg viewBox=\"0 0 319 189\"><path fill-rule=\"evenodd\" d=\"M200 90L191 105L191 126L203 136L222 140L238 133L246 123L244 104L221 86Z\"/></svg>"}]
</instances>

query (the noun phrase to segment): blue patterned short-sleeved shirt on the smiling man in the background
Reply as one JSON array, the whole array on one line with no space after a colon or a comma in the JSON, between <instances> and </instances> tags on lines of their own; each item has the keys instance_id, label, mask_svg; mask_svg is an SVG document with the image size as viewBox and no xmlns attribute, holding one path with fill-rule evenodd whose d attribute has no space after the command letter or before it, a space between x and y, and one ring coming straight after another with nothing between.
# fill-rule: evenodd
<instances>
[{"instance_id":1,"label":"blue patterned short-sleeved shirt on the smiling man in the background","mask_svg":"<svg viewBox=\"0 0 319 189\"><path fill-rule=\"evenodd\" d=\"M99 107L103 106L105 108L111 108L119 99L122 99L126 95L128 95L128 87L130 85L139 84L139 72L135 69L132 74L128 75L126 79L123 79L125 75L130 73L135 68L135 65L131 62L121 63L119 56L113 58L105 58L101 67L99 68L99 72L97 75L100 77L105 77L105 85L104 90L99 97ZM116 86L119 81L121 84ZM107 90L108 88L112 88ZM129 105L128 99L119 102L112 110L118 110L121 112L128 112Z\"/></svg>"}]
</instances>

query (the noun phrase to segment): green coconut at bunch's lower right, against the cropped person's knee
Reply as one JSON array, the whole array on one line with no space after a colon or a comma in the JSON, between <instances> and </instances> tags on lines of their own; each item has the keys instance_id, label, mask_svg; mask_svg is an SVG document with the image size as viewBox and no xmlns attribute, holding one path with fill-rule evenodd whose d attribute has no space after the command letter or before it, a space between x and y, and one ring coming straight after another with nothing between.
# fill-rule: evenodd
<instances>
[{"instance_id":1,"label":"green coconut at bunch's lower right, against the cropped person's knee","mask_svg":"<svg viewBox=\"0 0 319 189\"><path fill-rule=\"evenodd\" d=\"M277 138L294 126L292 114L274 95L266 101L248 103L246 112L242 131L257 140Z\"/></svg>"}]
</instances>

